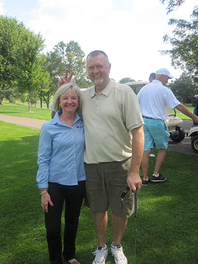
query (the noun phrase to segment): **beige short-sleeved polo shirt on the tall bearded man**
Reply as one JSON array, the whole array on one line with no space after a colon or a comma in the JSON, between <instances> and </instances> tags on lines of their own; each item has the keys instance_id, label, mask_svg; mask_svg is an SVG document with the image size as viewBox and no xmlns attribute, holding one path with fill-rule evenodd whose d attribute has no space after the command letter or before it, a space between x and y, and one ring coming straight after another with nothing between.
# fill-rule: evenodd
<instances>
[{"instance_id":1,"label":"beige short-sleeved polo shirt on the tall bearded man","mask_svg":"<svg viewBox=\"0 0 198 264\"><path fill-rule=\"evenodd\" d=\"M86 163L121 161L132 155L134 128L144 124L138 99L125 84L109 81L97 94L95 86L83 91Z\"/></svg>"}]
</instances>

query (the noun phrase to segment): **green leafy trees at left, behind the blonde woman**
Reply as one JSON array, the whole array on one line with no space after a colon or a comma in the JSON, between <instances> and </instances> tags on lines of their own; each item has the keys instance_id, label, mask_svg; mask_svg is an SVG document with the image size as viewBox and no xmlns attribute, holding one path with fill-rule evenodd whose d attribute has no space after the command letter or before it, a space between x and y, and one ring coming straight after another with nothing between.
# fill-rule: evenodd
<instances>
[{"instance_id":1,"label":"green leafy trees at left, behind the blonde woman","mask_svg":"<svg viewBox=\"0 0 198 264\"><path fill-rule=\"evenodd\" d=\"M38 100L49 108L57 89L58 78L66 68L74 70L79 87L91 86L86 69L85 53L77 42L58 43L53 51L43 53L45 40L41 34L26 29L16 18L0 16L0 105L20 99L36 105Z\"/></svg>"}]
</instances>

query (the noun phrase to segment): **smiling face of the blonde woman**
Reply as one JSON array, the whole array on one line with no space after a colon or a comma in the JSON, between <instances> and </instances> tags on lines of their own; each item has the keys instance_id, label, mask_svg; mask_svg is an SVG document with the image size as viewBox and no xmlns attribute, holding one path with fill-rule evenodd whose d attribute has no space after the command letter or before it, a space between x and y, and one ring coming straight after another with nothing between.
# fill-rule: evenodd
<instances>
[{"instance_id":1,"label":"smiling face of the blonde woman","mask_svg":"<svg viewBox=\"0 0 198 264\"><path fill-rule=\"evenodd\" d=\"M63 112L74 113L78 105L78 95L76 92L70 90L60 96L59 106L61 106Z\"/></svg>"}]
</instances>

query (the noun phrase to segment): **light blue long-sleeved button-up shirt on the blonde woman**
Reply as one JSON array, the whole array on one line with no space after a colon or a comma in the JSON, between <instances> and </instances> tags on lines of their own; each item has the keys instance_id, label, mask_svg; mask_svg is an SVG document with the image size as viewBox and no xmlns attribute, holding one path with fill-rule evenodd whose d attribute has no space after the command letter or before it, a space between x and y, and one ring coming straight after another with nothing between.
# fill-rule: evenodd
<instances>
[{"instance_id":1,"label":"light blue long-sleeved button-up shirt on the blonde woman","mask_svg":"<svg viewBox=\"0 0 198 264\"><path fill-rule=\"evenodd\" d=\"M41 128L37 172L39 188L47 188L48 182L78 185L78 181L86 179L82 116L76 113L76 119L70 127L60 121L61 113L59 110Z\"/></svg>"}]
</instances>

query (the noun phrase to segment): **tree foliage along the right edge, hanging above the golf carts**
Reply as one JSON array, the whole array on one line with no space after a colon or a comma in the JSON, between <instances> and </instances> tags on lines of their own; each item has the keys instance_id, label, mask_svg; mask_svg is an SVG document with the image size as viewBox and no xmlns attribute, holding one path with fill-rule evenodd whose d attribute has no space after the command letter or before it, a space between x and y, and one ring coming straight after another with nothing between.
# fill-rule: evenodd
<instances>
[{"instance_id":1,"label":"tree foliage along the right edge, hanging above the golf carts","mask_svg":"<svg viewBox=\"0 0 198 264\"><path fill-rule=\"evenodd\" d=\"M167 14L176 10L185 0L160 0L168 2ZM160 51L162 55L169 55L174 68L183 70L180 78L170 83L168 87L173 91L181 103L192 103L196 106L198 94L198 5L191 15L191 21L184 19L169 19L169 25L175 25L170 37L163 36L165 43L170 43L172 50Z\"/></svg>"}]
</instances>

